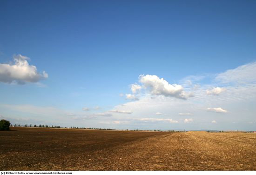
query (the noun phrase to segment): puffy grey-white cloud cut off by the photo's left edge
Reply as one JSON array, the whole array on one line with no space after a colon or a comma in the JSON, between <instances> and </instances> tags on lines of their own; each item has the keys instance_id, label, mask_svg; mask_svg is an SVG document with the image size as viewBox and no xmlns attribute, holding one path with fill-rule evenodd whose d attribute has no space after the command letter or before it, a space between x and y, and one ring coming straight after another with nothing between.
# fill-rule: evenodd
<instances>
[{"instance_id":1,"label":"puffy grey-white cloud cut off by the photo's left edge","mask_svg":"<svg viewBox=\"0 0 256 175\"><path fill-rule=\"evenodd\" d=\"M40 74L37 72L35 66L28 64L28 57L19 54L14 55L13 60L14 64L0 64L1 82L25 84L27 82L38 82L48 78L48 74L45 71Z\"/></svg>"}]
</instances>

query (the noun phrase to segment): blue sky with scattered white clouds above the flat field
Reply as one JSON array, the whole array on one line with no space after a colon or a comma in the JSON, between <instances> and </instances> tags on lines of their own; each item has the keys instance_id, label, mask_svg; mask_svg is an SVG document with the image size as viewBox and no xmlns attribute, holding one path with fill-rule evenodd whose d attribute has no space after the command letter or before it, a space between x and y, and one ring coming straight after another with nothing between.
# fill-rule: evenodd
<instances>
[{"instance_id":1,"label":"blue sky with scattered white clouds above the flat field","mask_svg":"<svg viewBox=\"0 0 256 175\"><path fill-rule=\"evenodd\" d=\"M0 0L0 119L256 130L255 0Z\"/></svg>"}]
</instances>

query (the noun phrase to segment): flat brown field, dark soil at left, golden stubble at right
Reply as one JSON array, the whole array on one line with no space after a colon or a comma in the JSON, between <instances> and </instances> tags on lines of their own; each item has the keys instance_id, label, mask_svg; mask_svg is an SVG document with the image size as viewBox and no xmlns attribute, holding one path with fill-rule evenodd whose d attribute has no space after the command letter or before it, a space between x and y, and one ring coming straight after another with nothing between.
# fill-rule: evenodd
<instances>
[{"instance_id":1,"label":"flat brown field, dark soil at left, golden stubble at right","mask_svg":"<svg viewBox=\"0 0 256 175\"><path fill-rule=\"evenodd\" d=\"M256 134L0 131L0 170L256 170Z\"/></svg>"}]
</instances>

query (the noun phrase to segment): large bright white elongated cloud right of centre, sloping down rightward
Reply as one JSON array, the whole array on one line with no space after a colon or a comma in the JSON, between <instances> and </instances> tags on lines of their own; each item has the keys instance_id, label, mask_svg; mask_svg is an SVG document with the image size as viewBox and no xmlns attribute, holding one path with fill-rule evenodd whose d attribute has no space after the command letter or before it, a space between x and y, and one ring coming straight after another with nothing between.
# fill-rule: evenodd
<instances>
[{"instance_id":1,"label":"large bright white elongated cloud right of centre, sloping down rightward","mask_svg":"<svg viewBox=\"0 0 256 175\"><path fill-rule=\"evenodd\" d=\"M142 83L144 88L149 90L150 94L181 99L187 99L192 96L192 94L184 92L181 85L169 84L166 80L163 78L160 79L156 75L140 75L139 81Z\"/></svg>"}]
</instances>

